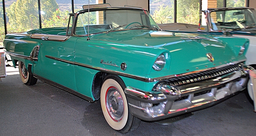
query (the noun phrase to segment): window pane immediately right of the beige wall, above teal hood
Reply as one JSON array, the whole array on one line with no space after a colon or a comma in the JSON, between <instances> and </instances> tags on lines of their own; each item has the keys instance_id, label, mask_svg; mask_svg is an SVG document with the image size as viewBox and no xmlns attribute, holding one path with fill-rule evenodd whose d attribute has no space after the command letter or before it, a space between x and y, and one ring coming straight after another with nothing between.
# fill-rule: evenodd
<instances>
[{"instance_id":1,"label":"window pane immediately right of the beige wall, above teal hood","mask_svg":"<svg viewBox=\"0 0 256 136\"><path fill-rule=\"evenodd\" d=\"M150 0L150 15L158 24L174 23L174 0Z\"/></svg>"}]
</instances>

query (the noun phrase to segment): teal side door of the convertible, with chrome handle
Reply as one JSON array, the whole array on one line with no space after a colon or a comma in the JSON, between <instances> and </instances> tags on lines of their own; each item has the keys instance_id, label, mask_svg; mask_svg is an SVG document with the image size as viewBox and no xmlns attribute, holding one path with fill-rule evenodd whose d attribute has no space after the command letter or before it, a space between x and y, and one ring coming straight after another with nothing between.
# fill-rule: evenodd
<instances>
[{"instance_id":1,"label":"teal side door of the convertible, with chrome handle","mask_svg":"<svg viewBox=\"0 0 256 136\"><path fill-rule=\"evenodd\" d=\"M74 77L74 45L76 37L32 34L40 43L38 62L34 64L35 75L76 90Z\"/></svg>"}]
</instances>

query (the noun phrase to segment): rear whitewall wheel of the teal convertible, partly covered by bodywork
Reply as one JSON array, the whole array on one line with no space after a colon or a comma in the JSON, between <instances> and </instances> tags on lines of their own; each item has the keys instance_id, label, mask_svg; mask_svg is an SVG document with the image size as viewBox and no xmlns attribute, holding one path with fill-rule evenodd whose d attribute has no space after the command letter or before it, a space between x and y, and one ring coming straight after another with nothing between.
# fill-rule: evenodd
<instances>
[{"instance_id":1,"label":"rear whitewall wheel of the teal convertible, partly covered by bodywork","mask_svg":"<svg viewBox=\"0 0 256 136\"><path fill-rule=\"evenodd\" d=\"M19 61L18 66L19 66L20 78L22 82L29 86L36 84L37 78L35 78L32 74L29 74L25 64Z\"/></svg>"}]
</instances>

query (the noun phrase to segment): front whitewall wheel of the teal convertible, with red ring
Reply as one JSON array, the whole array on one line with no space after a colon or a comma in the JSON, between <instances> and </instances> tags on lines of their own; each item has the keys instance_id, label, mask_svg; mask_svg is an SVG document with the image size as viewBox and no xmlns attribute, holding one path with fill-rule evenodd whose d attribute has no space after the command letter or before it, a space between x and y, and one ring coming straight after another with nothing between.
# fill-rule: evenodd
<instances>
[{"instance_id":1,"label":"front whitewall wheel of the teal convertible, with red ring","mask_svg":"<svg viewBox=\"0 0 256 136\"><path fill-rule=\"evenodd\" d=\"M111 128L120 133L128 133L140 125L140 119L134 117L124 94L125 84L118 76L109 75L101 88L100 102L104 117Z\"/></svg>"}]
</instances>

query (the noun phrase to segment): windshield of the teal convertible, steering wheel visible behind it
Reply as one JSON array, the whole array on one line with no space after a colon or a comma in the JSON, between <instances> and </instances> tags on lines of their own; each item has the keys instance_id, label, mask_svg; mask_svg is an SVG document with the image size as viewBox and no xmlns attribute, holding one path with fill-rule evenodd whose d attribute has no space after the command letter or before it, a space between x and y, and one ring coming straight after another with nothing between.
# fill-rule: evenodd
<instances>
[{"instance_id":1,"label":"windshield of the teal convertible, steering wheel visible behind it","mask_svg":"<svg viewBox=\"0 0 256 136\"><path fill-rule=\"evenodd\" d=\"M122 29L159 29L158 25L145 10L100 10L78 14L74 33L87 35ZM89 29L89 32L88 32Z\"/></svg>"}]
</instances>

